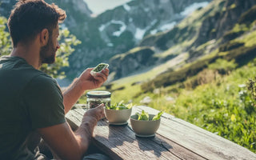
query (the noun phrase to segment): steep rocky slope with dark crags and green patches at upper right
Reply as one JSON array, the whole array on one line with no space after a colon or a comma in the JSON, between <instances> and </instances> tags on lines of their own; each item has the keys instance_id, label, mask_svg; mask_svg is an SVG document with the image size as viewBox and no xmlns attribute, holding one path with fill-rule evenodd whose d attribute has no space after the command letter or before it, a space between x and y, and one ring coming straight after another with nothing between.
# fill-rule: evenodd
<instances>
[{"instance_id":1,"label":"steep rocky slope with dark crags and green patches at upper right","mask_svg":"<svg viewBox=\"0 0 256 160\"><path fill-rule=\"evenodd\" d=\"M241 21L239 19L242 14L254 5L254 0L215 0L206 8L196 10L194 14L174 26L172 30L143 38L139 46L150 46L154 51L154 54L148 55L155 59L151 66L159 65L182 53L188 53L186 63L194 62L203 55L210 54L223 43L243 34L242 30L235 33L231 30ZM125 56L123 55L123 57ZM111 69L116 72L115 78L121 78L131 73L121 71L121 68L128 67L130 64L122 63L122 66L119 64L118 67L115 67L117 65L115 61L118 59L111 58L110 60L110 66L113 66ZM134 70L143 68L145 67L134 66Z\"/></svg>"}]
</instances>

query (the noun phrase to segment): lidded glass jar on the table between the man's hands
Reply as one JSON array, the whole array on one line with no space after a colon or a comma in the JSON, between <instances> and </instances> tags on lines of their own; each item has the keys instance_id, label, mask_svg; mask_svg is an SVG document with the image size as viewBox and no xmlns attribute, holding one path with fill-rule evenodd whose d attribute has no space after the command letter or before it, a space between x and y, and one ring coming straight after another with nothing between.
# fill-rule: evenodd
<instances>
[{"instance_id":1,"label":"lidded glass jar on the table between the man's hands","mask_svg":"<svg viewBox=\"0 0 256 160\"><path fill-rule=\"evenodd\" d=\"M96 106L104 103L105 106L110 106L111 93L104 90L94 90L86 94L87 109L95 108Z\"/></svg>"}]
</instances>

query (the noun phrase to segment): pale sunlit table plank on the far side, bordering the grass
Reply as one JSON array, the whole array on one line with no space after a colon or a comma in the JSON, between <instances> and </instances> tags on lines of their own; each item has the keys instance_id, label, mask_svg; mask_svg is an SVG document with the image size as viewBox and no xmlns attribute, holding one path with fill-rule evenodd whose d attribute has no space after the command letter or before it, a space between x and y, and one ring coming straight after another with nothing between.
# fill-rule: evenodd
<instances>
[{"instance_id":1,"label":"pale sunlit table plank on the far side, bordering the grass","mask_svg":"<svg viewBox=\"0 0 256 160\"><path fill-rule=\"evenodd\" d=\"M158 113L158 110L146 106L138 106L134 109L146 110L152 114ZM200 154L204 158L256 159L256 154L250 150L182 119L174 118L170 114L163 114L161 120L158 134L170 138L173 142Z\"/></svg>"}]
</instances>

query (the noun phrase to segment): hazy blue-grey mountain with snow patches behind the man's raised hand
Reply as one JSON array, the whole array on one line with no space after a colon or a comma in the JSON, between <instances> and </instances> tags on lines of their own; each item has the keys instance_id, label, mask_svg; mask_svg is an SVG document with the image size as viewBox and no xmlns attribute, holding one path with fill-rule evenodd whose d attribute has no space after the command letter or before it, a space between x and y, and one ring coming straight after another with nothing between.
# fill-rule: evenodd
<instances>
[{"instance_id":1,"label":"hazy blue-grey mountain with snow patches behind the man's raised hand","mask_svg":"<svg viewBox=\"0 0 256 160\"><path fill-rule=\"evenodd\" d=\"M78 37L82 44L70 55L70 67L66 71L72 77L86 66L109 62L114 55L138 46L146 35L170 30L186 17L188 6L191 10L191 5L206 6L208 2L136 0L90 18L85 26L77 28L82 34Z\"/></svg>"}]
</instances>

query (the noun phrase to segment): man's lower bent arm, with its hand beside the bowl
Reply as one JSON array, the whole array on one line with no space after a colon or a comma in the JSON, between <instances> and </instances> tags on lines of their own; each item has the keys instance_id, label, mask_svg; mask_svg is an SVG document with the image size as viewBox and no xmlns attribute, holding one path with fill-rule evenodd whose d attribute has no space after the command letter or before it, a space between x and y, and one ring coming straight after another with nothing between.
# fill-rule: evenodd
<instances>
[{"instance_id":1,"label":"man's lower bent arm, with its hand beside the bowl","mask_svg":"<svg viewBox=\"0 0 256 160\"><path fill-rule=\"evenodd\" d=\"M82 159L90 144L94 126L104 117L103 105L88 110L84 114L81 126L73 132L67 122L38 129L42 138L54 154L62 159Z\"/></svg>"}]
</instances>

